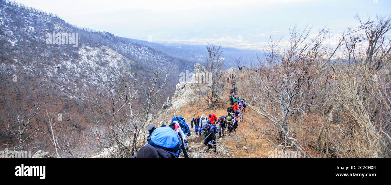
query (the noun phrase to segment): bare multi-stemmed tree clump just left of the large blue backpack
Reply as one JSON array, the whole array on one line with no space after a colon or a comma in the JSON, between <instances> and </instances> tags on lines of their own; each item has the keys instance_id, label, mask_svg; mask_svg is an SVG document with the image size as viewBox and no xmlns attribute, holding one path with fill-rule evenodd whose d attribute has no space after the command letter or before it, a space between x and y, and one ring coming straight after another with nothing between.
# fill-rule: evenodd
<instances>
[{"instance_id":1,"label":"bare multi-stemmed tree clump just left of the large blue backpack","mask_svg":"<svg viewBox=\"0 0 391 185\"><path fill-rule=\"evenodd\" d=\"M87 119L94 123L90 129L113 157L131 157L136 153L139 137L145 136L146 125L159 110L158 102L170 74L153 72L151 77L142 77L141 85L133 74L120 77L115 85L110 84L106 94L90 100L91 115Z\"/></svg>"}]
</instances>

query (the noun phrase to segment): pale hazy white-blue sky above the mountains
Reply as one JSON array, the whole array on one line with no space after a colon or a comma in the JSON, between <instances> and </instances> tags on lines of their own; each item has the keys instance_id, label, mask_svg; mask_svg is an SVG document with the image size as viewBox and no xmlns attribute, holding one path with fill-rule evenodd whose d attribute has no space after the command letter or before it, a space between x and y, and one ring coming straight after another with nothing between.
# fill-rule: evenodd
<instances>
[{"instance_id":1,"label":"pale hazy white-blue sky above the mountains","mask_svg":"<svg viewBox=\"0 0 391 185\"><path fill-rule=\"evenodd\" d=\"M117 36L173 43L223 43L262 48L289 27L324 26L338 34L353 18L389 16L391 0L16 0L59 15L78 27Z\"/></svg>"}]
</instances>

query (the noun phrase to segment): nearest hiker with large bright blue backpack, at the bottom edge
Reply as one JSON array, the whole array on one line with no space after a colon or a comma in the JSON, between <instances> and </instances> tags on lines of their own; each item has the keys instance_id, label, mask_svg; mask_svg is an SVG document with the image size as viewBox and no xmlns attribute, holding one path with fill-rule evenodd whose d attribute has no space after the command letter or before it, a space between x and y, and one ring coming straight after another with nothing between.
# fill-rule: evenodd
<instances>
[{"instance_id":1,"label":"nearest hiker with large bright blue backpack, at the bottom edge","mask_svg":"<svg viewBox=\"0 0 391 185\"><path fill-rule=\"evenodd\" d=\"M177 158L181 149L178 134L169 127L152 130L148 144L131 158Z\"/></svg>"}]
</instances>

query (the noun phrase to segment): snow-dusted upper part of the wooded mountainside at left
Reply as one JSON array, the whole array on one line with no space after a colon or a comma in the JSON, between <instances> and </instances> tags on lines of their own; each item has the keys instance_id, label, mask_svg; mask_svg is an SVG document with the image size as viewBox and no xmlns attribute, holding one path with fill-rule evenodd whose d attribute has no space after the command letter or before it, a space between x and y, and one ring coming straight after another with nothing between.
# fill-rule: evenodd
<instances>
[{"instance_id":1,"label":"snow-dusted upper part of the wooded mountainside at left","mask_svg":"<svg viewBox=\"0 0 391 185\"><path fill-rule=\"evenodd\" d=\"M47 44L47 34L53 32L78 34L77 47L75 44ZM178 74L192 70L192 63L186 60L127 38L78 28L50 13L4 0L0 0L0 48L2 79L12 79L16 74L19 79L34 79L34 83L39 81L43 86L50 79L61 90L99 87L104 79L113 81L130 72L148 76L152 70L173 70L167 84L170 94L178 83ZM70 88L69 84L75 87Z\"/></svg>"}]
</instances>

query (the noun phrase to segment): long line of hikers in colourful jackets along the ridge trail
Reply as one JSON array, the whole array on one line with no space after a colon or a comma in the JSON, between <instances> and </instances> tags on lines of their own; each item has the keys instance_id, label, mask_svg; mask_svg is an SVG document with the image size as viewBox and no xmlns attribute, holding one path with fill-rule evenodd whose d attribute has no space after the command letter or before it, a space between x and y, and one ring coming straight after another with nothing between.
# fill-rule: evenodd
<instances>
[{"instance_id":1,"label":"long line of hikers in colourful jackets along the ridge trail","mask_svg":"<svg viewBox=\"0 0 391 185\"><path fill-rule=\"evenodd\" d=\"M230 74L228 79L231 79L232 89L230 90L231 106L227 108L227 114L217 118L213 113L208 117L202 114L201 117L194 115L190 121L191 128L194 128L195 135L203 136L203 144L208 146L208 149L213 149L216 153L216 134L219 137L236 133L239 122L243 121L243 115L246 110L244 99L235 95L235 78L234 74ZM194 125L193 125L194 124ZM217 125L217 126L216 126ZM188 142L187 137L191 136L190 128L182 116L174 116L171 119L169 126L162 125L156 128L153 124L147 128L149 136L147 137L147 145L140 148L138 153L132 158L178 158L180 153L183 153L185 158L188 158Z\"/></svg>"}]
</instances>

